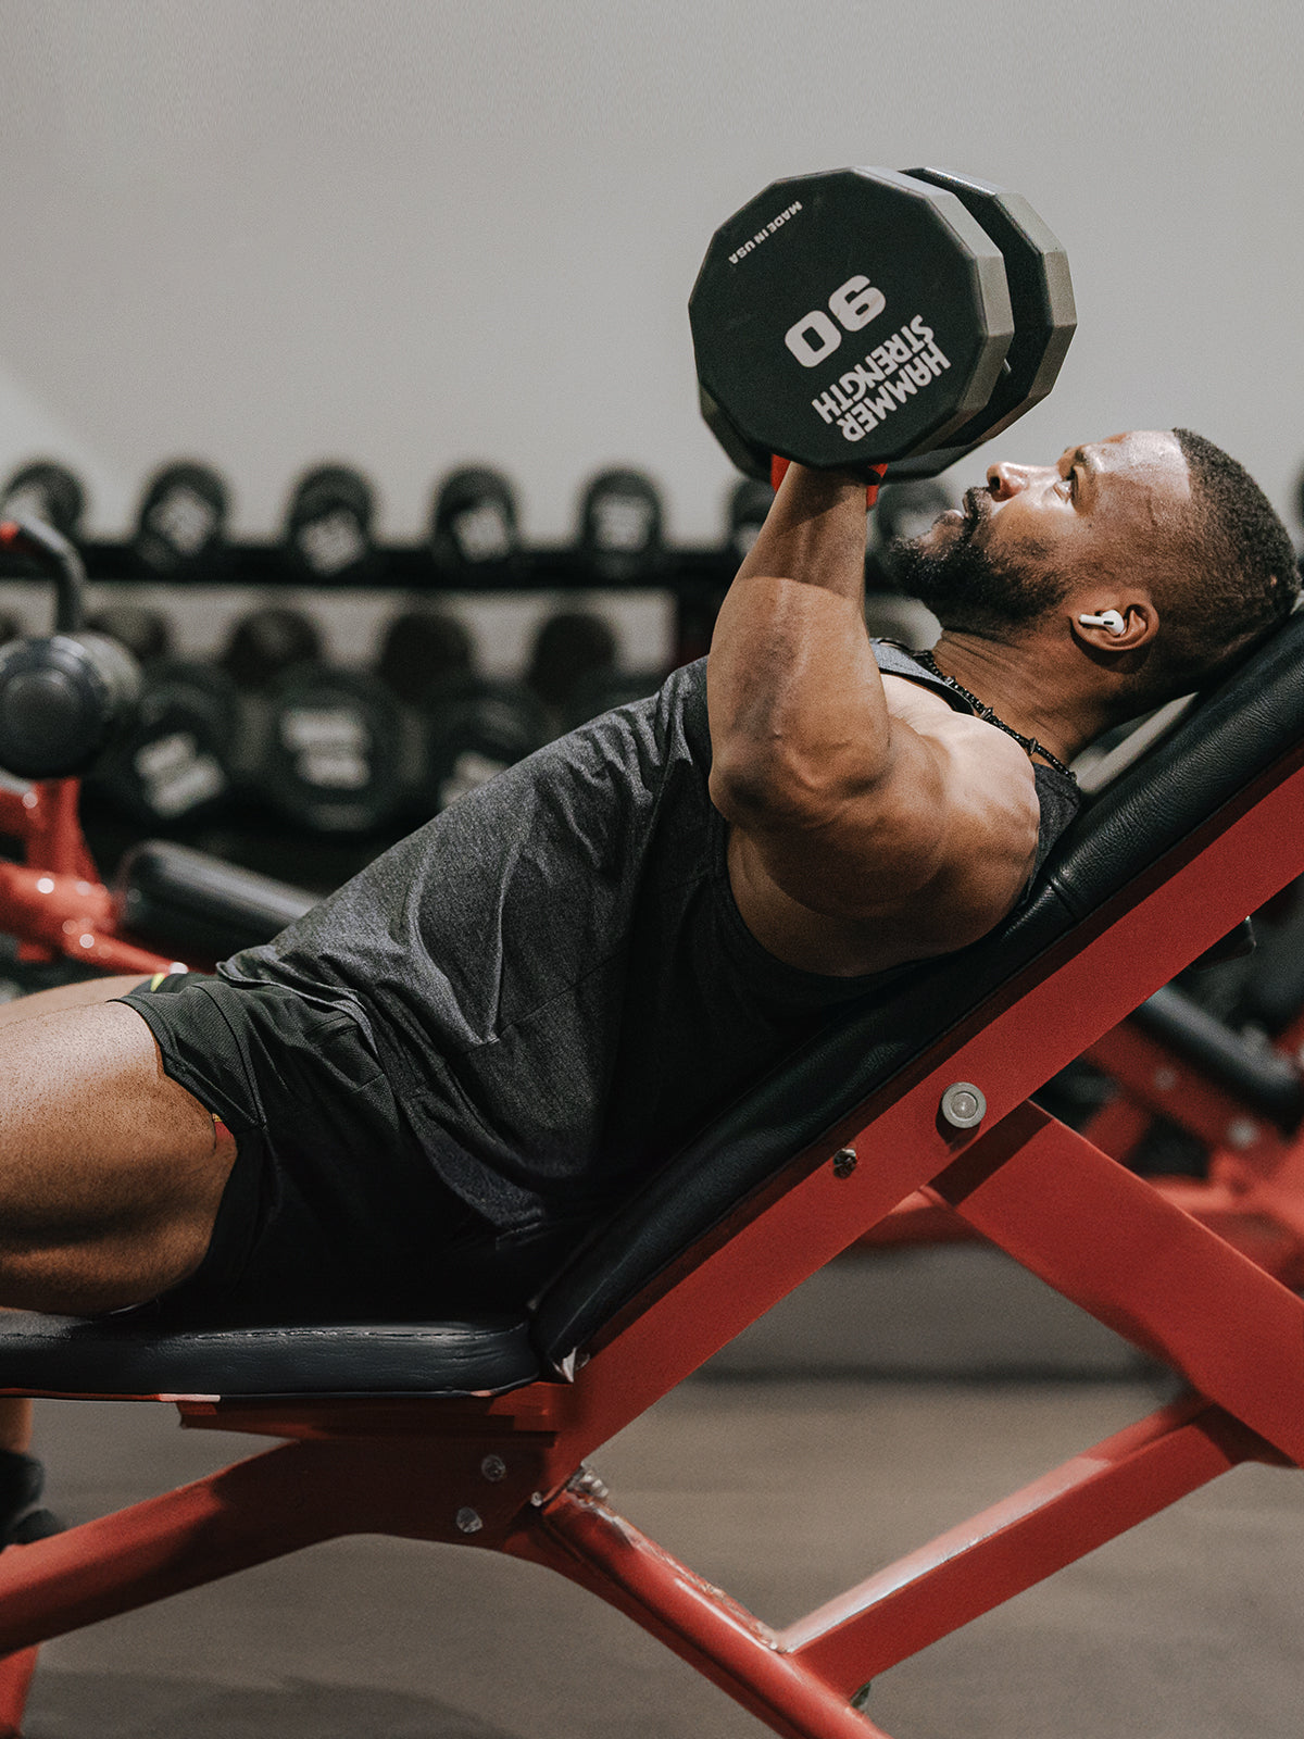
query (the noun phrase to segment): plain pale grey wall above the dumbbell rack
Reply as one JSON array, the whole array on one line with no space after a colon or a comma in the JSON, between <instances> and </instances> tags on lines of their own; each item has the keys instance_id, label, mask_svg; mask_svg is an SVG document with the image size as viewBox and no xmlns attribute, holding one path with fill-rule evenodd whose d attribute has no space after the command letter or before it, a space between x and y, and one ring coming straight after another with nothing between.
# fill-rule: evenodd
<instances>
[{"instance_id":1,"label":"plain pale grey wall above the dumbbell rack","mask_svg":"<svg viewBox=\"0 0 1304 1739\"><path fill-rule=\"evenodd\" d=\"M341 456L391 537L468 457L539 539L621 459L715 537L685 316L713 228L775 176L918 160L1021 190L1073 263L1061 384L982 463L1189 423L1294 515L1297 5L3 0L0 28L0 475L73 461L103 532L193 452L247 534Z\"/></svg>"}]
</instances>

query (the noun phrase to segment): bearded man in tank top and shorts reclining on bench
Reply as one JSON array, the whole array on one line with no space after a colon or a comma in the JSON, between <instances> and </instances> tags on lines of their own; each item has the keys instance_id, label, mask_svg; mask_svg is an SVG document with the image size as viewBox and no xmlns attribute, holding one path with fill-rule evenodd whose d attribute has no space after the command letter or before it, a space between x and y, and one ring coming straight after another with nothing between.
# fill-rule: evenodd
<instances>
[{"instance_id":1,"label":"bearded man in tank top and shorts reclining on bench","mask_svg":"<svg viewBox=\"0 0 1304 1739\"><path fill-rule=\"evenodd\" d=\"M7 1007L0 1304L525 1301L840 1007L1000 923L1074 814L1064 763L1297 593L1262 492L1182 430L995 464L904 555L934 656L866 636L864 480L793 466L709 661L659 696L216 976Z\"/></svg>"}]
</instances>

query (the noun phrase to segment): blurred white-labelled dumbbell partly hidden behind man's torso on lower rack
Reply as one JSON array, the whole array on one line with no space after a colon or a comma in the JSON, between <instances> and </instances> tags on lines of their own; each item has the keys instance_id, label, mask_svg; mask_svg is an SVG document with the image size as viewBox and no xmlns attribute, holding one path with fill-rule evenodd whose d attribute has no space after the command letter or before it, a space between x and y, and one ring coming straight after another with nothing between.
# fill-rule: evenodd
<instances>
[{"instance_id":1,"label":"blurred white-labelled dumbbell partly hidden behind man's torso on lower rack","mask_svg":"<svg viewBox=\"0 0 1304 1739\"><path fill-rule=\"evenodd\" d=\"M539 699L518 682L452 676L426 697L426 802L447 809L548 741Z\"/></svg>"}]
</instances>

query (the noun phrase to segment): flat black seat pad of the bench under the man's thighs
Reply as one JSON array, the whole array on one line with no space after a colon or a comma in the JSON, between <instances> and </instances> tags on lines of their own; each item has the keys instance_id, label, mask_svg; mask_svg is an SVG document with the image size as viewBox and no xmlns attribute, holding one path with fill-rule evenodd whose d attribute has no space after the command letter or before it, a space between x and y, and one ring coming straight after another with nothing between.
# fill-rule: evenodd
<instances>
[{"instance_id":1,"label":"flat black seat pad of the bench under the man's thighs","mask_svg":"<svg viewBox=\"0 0 1304 1739\"><path fill-rule=\"evenodd\" d=\"M273 1398L501 1395L539 1376L523 1316L150 1329L139 1318L0 1315L0 1389Z\"/></svg>"}]
</instances>

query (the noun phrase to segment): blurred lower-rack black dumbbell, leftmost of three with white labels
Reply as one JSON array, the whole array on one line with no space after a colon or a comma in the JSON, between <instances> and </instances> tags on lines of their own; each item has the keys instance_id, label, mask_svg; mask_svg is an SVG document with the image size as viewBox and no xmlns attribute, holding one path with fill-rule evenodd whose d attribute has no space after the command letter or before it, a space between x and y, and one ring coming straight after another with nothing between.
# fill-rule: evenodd
<instances>
[{"instance_id":1,"label":"blurred lower-rack black dumbbell, leftmost of three with white labels","mask_svg":"<svg viewBox=\"0 0 1304 1739\"><path fill-rule=\"evenodd\" d=\"M143 678L136 720L90 786L148 831L214 821L233 795L240 704L214 664L174 659Z\"/></svg>"}]
</instances>

